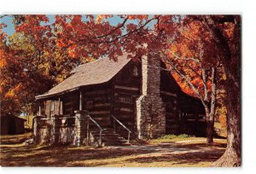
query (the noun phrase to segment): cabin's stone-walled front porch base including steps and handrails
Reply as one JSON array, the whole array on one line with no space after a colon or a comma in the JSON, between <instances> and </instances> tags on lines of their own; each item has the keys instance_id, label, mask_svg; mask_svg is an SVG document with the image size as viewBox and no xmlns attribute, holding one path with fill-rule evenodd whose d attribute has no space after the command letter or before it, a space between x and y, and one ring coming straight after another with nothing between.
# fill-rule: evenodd
<instances>
[{"instance_id":1,"label":"cabin's stone-walled front porch base including steps and handrails","mask_svg":"<svg viewBox=\"0 0 256 174\"><path fill-rule=\"evenodd\" d=\"M33 135L37 144L68 144L73 146L130 145L131 131L113 115L113 127L102 127L88 111L77 110L74 116L52 115L51 118L37 116L33 119ZM126 136L121 136L116 127L122 127Z\"/></svg>"}]
</instances>

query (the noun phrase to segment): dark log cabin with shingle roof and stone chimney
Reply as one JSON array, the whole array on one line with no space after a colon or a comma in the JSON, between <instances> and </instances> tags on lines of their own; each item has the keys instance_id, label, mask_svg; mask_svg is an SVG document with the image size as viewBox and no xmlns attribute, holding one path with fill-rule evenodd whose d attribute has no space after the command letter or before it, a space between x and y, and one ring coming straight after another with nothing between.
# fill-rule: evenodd
<instances>
[{"instance_id":1,"label":"dark log cabin with shingle roof and stone chimney","mask_svg":"<svg viewBox=\"0 0 256 174\"><path fill-rule=\"evenodd\" d=\"M80 65L36 100L37 142L48 135L55 143L79 146L97 139L124 145L130 138L204 136L206 131L200 100L185 94L160 56L152 53L137 61L124 54L117 61L107 57Z\"/></svg>"}]
</instances>

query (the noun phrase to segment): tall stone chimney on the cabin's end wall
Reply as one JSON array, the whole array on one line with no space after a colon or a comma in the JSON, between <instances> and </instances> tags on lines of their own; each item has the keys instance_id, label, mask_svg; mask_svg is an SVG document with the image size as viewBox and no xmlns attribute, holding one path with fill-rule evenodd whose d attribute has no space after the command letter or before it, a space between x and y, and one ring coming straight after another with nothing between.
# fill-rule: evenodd
<instances>
[{"instance_id":1,"label":"tall stone chimney on the cabin's end wall","mask_svg":"<svg viewBox=\"0 0 256 174\"><path fill-rule=\"evenodd\" d=\"M166 133L166 110L160 97L160 55L142 57L142 96L137 99L138 138L154 138Z\"/></svg>"}]
</instances>

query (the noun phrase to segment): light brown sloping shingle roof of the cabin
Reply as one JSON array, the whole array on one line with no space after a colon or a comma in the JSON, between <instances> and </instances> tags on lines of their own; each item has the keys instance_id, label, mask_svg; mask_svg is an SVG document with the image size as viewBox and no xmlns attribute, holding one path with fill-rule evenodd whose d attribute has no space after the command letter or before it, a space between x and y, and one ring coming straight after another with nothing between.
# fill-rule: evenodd
<instances>
[{"instance_id":1,"label":"light brown sloping shingle roof of the cabin","mask_svg":"<svg viewBox=\"0 0 256 174\"><path fill-rule=\"evenodd\" d=\"M119 56L118 61L110 60L108 57L91 61L76 67L69 78L49 90L44 95L36 96L36 99L55 96L67 91L78 90L80 86L90 84L102 84L108 82L113 76L131 61L127 54Z\"/></svg>"}]
</instances>

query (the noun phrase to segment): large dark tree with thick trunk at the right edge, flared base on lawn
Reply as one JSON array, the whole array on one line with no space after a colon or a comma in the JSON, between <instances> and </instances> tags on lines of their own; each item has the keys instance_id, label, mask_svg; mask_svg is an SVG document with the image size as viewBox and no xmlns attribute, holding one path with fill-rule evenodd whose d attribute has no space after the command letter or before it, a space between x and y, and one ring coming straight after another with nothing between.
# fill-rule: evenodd
<instances>
[{"instance_id":1,"label":"large dark tree with thick trunk at the right edge, flared base on lawn","mask_svg":"<svg viewBox=\"0 0 256 174\"><path fill-rule=\"evenodd\" d=\"M204 16L201 19L211 32L222 53L221 61L227 76L228 144L217 166L241 165L241 16Z\"/></svg>"}]
</instances>

